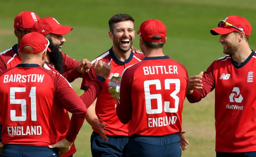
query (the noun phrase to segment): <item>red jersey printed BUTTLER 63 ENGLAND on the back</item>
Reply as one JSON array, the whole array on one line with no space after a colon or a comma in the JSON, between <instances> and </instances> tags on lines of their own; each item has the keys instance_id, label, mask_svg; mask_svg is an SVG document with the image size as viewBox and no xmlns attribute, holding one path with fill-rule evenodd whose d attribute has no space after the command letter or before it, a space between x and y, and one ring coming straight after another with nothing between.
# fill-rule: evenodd
<instances>
[{"instance_id":1,"label":"red jersey printed BUTTLER 63 ENGLAND on the back","mask_svg":"<svg viewBox=\"0 0 256 157\"><path fill-rule=\"evenodd\" d=\"M186 68L169 56L145 57L124 70L116 111L121 122L130 121L129 137L180 132L187 86Z\"/></svg>"}]
</instances>

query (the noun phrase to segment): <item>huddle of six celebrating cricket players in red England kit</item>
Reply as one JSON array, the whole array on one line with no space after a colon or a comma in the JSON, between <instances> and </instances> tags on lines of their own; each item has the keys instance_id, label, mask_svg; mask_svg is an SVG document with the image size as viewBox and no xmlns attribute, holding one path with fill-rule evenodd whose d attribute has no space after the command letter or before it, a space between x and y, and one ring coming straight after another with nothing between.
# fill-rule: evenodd
<instances>
[{"instance_id":1,"label":"huddle of six celebrating cricket players in red England kit","mask_svg":"<svg viewBox=\"0 0 256 157\"><path fill-rule=\"evenodd\" d=\"M245 18L228 16L210 30L220 35L226 56L190 78L163 52L163 22L142 22L141 52L132 47L130 15L116 14L108 25L113 45L78 62L62 52L72 27L31 11L16 16L18 43L0 53L1 157L72 157L85 119L93 129L92 157L181 157L189 144L184 100L196 103L214 89L216 157L256 156L256 97L246 97L255 84L256 54ZM70 85L77 78L80 96Z\"/></svg>"}]
</instances>

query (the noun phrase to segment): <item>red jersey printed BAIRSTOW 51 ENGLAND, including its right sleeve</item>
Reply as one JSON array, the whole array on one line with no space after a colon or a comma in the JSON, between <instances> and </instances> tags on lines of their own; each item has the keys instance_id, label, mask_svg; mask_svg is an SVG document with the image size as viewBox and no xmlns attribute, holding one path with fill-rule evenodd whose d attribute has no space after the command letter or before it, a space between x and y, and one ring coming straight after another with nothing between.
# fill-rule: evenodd
<instances>
[{"instance_id":1,"label":"red jersey printed BAIRSTOW 51 ENGLAND, including its right sleeve","mask_svg":"<svg viewBox=\"0 0 256 157\"><path fill-rule=\"evenodd\" d=\"M56 143L58 131L52 110L55 105L73 113L66 139L74 142L84 122L86 106L63 76L38 64L19 64L0 74L0 86L3 144ZM56 104L55 99L60 103Z\"/></svg>"}]
</instances>

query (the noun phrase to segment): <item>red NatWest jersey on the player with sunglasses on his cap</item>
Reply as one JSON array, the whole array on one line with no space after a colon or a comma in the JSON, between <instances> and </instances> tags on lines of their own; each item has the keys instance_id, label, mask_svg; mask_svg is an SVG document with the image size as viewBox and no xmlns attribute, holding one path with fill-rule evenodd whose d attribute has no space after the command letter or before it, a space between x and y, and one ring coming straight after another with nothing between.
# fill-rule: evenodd
<instances>
[{"instance_id":1,"label":"red NatWest jersey on the player with sunglasses on his cap","mask_svg":"<svg viewBox=\"0 0 256 157\"><path fill-rule=\"evenodd\" d=\"M255 67L255 52L239 66L229 55L219 58L204 72L203 89L187 95L194 103L215 88L216 151L256 151Z\"/></svg>"}]
</instances>

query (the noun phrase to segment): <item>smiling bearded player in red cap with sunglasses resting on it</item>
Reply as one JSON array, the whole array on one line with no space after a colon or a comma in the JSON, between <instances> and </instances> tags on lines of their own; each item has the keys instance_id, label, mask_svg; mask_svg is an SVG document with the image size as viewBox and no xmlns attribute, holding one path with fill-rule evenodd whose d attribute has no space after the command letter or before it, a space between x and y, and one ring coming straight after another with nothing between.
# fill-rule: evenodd
<instances>
[{"instance_id":1,"label":"smiling bearded player in red cap with sunglasses resting on it","mask_svg":"<svg viewBox=\"0 0 256 157\"><path fill-rule=\"evenodd\" d=\"M256 157L256 53L249 46L251 31L241 16L220 20L210 33L220 35L227 55L189 79L190 103L215 89L216 157Z\"/></svg>"}]
</instances>

